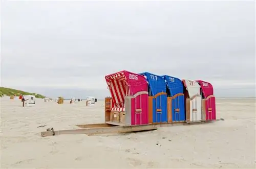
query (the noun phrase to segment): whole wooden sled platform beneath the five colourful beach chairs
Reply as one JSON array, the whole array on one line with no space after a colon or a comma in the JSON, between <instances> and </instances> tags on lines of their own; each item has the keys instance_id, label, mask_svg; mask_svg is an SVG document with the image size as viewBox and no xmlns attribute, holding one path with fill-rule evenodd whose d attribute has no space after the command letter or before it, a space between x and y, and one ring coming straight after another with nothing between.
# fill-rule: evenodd
<instances>
[{"instance_id":1,"label":"whole wooden sled platform beneath the five colourful beach chairs","mask_svg":"<svg viewBox=\"0 0 256 169\"><path fill-rule=\"evenodd\" d=\"M179 126L179 125L198 125L205 123L212 123L215 121L224 120L216 119L212 121L204 122L176 122L176 123L162 123L162 124L148 124L148 125L136 125L136 126L125 126L120 123L106 122L102 124L88 124L88 125L76 125L81 129L72 129L72 130L58 130L58 131L42 131L41 136L54 136L60 134L106 134L106 133L126 133L126 132L136 132L136 131L149 131L156 130L158 127L170 127L170 126Z\"/></svg>"}]
</instances>

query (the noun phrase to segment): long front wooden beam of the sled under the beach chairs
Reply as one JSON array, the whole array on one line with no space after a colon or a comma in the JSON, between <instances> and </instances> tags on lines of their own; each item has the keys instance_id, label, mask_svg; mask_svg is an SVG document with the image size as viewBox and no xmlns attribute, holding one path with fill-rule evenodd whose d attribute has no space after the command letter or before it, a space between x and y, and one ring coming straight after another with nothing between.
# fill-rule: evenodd
<instances>
[{"instance_id":1,"label":"long front wooden beam of the sled under the beach chairs","mask_svg":"<svg viewBox=\"0 0 256 169\"><path fill-rule=\"evenodd\" d=\"M152 125L137 125L137 126L115 126L115 127L105 127L105 128L85 128L85 129L74 129L74 130L58 130L58 131L43 131L41 132L42 137L60 135L60 134L105 134L105 133L125 133L125 132L135 132L135 131L148 131L156 130L156 126Z\"/></svg>"}]
</instances>

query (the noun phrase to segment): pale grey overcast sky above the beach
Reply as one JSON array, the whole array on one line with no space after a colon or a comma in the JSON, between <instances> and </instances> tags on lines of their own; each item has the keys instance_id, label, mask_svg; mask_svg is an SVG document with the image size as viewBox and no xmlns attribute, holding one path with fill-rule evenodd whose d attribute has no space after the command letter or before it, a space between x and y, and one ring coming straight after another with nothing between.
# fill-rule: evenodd
<instances>
[{"instance_id":1,"label":"pale grey overcast sky above the beach","mask_svg":"<svg viewBox=\"0 0 256 169\"><path fill-rule=\"evenodd\" d=\"M108 95L123 69L255 93L254 2L2 1L2 86Z\"/></svg>"}]
</instances>

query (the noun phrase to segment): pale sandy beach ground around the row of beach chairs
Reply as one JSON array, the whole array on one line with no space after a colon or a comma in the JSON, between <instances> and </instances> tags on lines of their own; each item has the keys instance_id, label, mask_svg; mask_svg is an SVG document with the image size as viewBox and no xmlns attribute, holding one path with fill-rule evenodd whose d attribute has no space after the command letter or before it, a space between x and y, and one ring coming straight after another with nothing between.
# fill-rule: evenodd
<instances>
[{"instance_id":1,"label":"pale sandy beach ground around the row of beach chairs","mask_svg":"<svg viewBox=\"0 0 256 169\"><path fill-rule=\"evenodd\" d=\"M1 168L254 168L255 100L218 99L210 124L130 134L58 135L40 132L104 122L100 101L63 105L36 100L22 107L2 98ZM47 124L46 127L37 126ZM158 145L157 145L158 144Z\"/></svg>"}]
</instances>

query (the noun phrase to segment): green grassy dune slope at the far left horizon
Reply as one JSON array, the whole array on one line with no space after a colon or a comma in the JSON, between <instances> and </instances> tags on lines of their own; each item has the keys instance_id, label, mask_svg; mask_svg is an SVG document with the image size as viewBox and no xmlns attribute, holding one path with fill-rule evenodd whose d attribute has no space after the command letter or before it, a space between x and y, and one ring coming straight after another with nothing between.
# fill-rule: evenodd
<instances>
[{"instance_id":1,"label":"green grassy dune slope at the far left horizon","mask_svg":"<svg viewBox=\"0 0 256 169\"><path fill-rule=\"evenodd\" d=\"M41 99L46 98L46 96L41 95L41 94L37 94L37 93L30 93L30 92L26 92L26 91L22 91L22 90L0 87L0 97L3 97L5 95L7 95L7 96L11 96L11 95L19 96L20 94L34 95L36 98L41 98Z\"/></svg>"}]
</instances>

